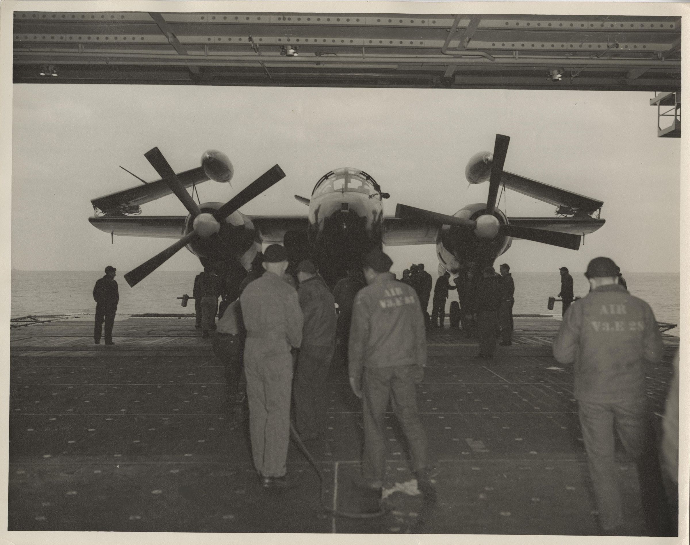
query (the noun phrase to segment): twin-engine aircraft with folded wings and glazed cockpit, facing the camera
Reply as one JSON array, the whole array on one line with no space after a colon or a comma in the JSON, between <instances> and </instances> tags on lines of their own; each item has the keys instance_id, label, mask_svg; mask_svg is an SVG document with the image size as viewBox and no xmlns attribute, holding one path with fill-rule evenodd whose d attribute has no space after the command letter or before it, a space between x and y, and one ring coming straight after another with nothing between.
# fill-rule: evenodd
<instances>
[{"instance_id":1,"label":"twin-engine aircraft with folded wings and glazed cockpit, facing the camera","mask_svg":"<svg viewBox=\"0 0 690 545\"><path fill-rule=\"evenodd\" d=\"M349 167L331 170L319 179L311 199L295 195L309 207L306 216L244 215L240 207L285 176L279 166L225 204L197 204L186 188L209 179L229 182L234 169L228 157L209 150L201 156L201 166L175 174L158 148L153 148L144 155L161 179L93 199L97 215L89 221L111 235L177 239L127 273L130 286L184 246L204 266L224 262L247 270L262 244L284 244L293 261L314 259L329 286L344 277L349 267L359 266L366 252L384 245L436 244L439 269L453 274L493 265L514 238L577 250L582 235L604 224L603 219L592 217L603 202L505 172L509 140L497 135L493 155L478 153L466 167L471 184L489 180L486 204L469 204L452 216L398 204L395 217L384 218L382 200L388 193L366 172ZM501 184L558 206L560 217L506 217L496 207ZM177 195L188 215L132 215L141 211L139 205L170 193Z\"/></svg>"}]
</instances>

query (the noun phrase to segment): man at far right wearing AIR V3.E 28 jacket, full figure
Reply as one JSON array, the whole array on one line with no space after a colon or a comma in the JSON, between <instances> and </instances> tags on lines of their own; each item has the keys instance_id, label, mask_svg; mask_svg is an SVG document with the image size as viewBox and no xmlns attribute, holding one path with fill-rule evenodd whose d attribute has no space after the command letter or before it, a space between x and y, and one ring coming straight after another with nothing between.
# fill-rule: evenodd
<instances>
[{"instance_id":1,"label":"man at far right wearing AIR V3.E 28 jacket, full figure","mask_svg":"<svg viewBox=\"0 0 690 545\"><path fill-rule=\"evenodd\" d=\"M642 510L651 535L677 535L662 483L649 419L643 362L658 364L664 344L647 303L618 285L608 257L592 259L585 276L591 290L566 312L553 356L573 364L582 439L602 533L624 533L614 430L635 459Z\"/></svg>"}]
</instances>

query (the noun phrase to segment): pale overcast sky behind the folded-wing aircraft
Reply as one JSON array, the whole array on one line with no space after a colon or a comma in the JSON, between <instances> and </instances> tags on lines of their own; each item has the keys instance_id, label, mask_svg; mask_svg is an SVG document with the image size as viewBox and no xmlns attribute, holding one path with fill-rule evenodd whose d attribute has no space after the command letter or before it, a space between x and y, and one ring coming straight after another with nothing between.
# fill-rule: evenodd
<instances>
[{"instance_id":1,"label":"pale overcast sky behind the folded-wing aircraft","mask_svg":"<svg viewBox=\"0 0 690 545\"><path fill-rule=\"evenodd\" d=\"M208 181L201 201L227 201L279 164L286 177L242 208L248 214L305 214L328 170L366 170L404 203L453 214L485 202L465 165L511 137L505 169L604 201L607 223L578 252L514 241L497 262L515 271L584 270L612 257L623 271L678 273L680 139L656 136L648 92L14 85L12 266L124 273L172 239L115 237L88 223L90 199L139 184L122 165L157 179L144 152L158 146L177 172L204 150L225 152L233 187ZM145 215L184 215L174 196ZM507 191L509 217L553 217L555 207ZM388 248L395 268L424 262L435 247ZM181 250L161 270L197 270Z\"/></svg>"}]
</instances>

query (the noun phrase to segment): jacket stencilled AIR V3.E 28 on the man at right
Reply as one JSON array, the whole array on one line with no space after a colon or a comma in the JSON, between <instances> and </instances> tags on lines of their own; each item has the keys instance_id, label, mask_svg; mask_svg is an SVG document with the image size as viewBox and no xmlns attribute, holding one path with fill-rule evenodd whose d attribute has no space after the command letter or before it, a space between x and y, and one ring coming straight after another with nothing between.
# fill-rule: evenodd
<instances>
[{"instance_id":1,"label":"jacket stencilled AIR V3.E 28 on the man at right","mask_svg":"<svg viewBox=\"0 0 690 545\"><path fill-rule=\"evenodd\" d=\"M574 364L575 399L591 403L644 397L642 364L658 363L663 354L651 308L618 284L575 301L553 343L555 359Z\"/></svg>"}]
</instances>

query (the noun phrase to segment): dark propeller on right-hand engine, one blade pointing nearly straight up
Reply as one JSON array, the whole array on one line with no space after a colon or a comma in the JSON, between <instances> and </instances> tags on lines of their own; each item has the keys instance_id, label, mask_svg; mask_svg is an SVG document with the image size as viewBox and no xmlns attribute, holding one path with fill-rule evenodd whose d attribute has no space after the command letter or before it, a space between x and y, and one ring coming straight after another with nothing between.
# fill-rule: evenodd
<instances>
[{"instance_id":1,"label":"dark propeller on right-hand engine, one blade pointing nearly straight up","mask_svg":"<svg viewBox=\"0 0 690 545\"><path fill-rule=\"evenodd\" d=\"M439 214L431 210L423 210L414 206L398 204L395 208L395 217L408 219L411 221L423 221L430 224L450 225L462 228L469 228L475 232L480 239L493 239L498 234L506 237L542 242L551 246L560 246L578 250L580 248L580 235L571 233L535 229L531 227L518 227L513 225L501 225L497 217L493 215L496 208L496 197L498 188L501 185L503 166L506 161L510 137L496 135L493 147L493 159L491 161L491 175L489 176L489 197L486 199L486 210L477 219L465 219L461 217Z\"/></svg>"}]
</instances>

